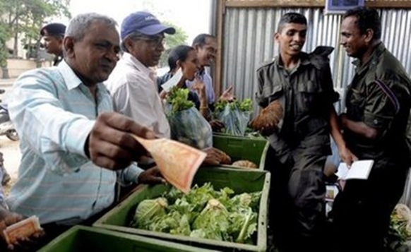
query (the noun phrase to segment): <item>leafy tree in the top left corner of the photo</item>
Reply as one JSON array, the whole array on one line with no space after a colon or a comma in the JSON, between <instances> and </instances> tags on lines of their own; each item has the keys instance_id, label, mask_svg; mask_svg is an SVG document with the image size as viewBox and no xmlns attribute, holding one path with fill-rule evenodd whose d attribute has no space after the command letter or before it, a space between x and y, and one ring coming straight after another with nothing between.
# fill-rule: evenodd
<instances>
[{"instance_id":1,"label":"leafy tree in the top left corner of the photo","mask_svg":"<svg viewBox=\"0 0 411 252\"><path fill-rule=\"evenodd\" d=\"M18 40L39 44L39 31L47 18L71 18L70 0L0 0L0 66L6 67L6 42L14 39L13 57L18 55Z\"/></svg>"}]
</instances>

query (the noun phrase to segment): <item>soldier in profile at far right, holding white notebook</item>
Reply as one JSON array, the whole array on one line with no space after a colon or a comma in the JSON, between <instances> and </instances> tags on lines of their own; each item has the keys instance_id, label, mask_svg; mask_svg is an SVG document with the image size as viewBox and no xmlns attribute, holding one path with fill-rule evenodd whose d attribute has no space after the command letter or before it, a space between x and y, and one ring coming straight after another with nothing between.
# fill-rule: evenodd
<instances>
[{"instance_id":1,"label":"soldier in profile at far right, holding white notebook","mask_svg":"<svg viewBox=\"0 0 411 252\"><path fill-rule=\"evenodd\" d=\"M357 60L347 88L341 125L348 148L374 160L367 180L346 181L333 205L338 251L383 251L390 215L402 196L410 167L405 128L411 80L381 38L376 10L355 8L342 19L341 44Z\"/></svg>"}]
</instances>

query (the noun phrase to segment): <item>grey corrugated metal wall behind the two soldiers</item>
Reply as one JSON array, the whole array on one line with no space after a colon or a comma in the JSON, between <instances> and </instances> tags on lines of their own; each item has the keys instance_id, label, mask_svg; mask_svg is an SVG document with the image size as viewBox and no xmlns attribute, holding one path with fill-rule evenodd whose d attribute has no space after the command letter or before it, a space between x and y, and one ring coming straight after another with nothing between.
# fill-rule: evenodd
<instances>
[{"instance_id":1,"label":"grey corrugated metal wall behind the two soldiers","mask_svg":"<svg viewBox=\"0 0 411 252\"><path fill-rule=\"evenodd\" d=\"M344 95L347 84L354 75L353 59L346 56L339 45L340 15L323 15L322 8L226 8L224 35L222 37L222 90L234 84L240 100L251 97L257 90L256 68L273 58L278 52L273 35L282 14L295 11L309 20L304 51L311 52L318 45L335 47L330 56L331 70L336 90ZM411 10L383 9L382 41L403 62L411 73ZM344 108L343 100L338 110ZM258 108L254 103L255 112ZM407 181L403 202L411 205L411 181Z\"/></svg>"}]
</instances>

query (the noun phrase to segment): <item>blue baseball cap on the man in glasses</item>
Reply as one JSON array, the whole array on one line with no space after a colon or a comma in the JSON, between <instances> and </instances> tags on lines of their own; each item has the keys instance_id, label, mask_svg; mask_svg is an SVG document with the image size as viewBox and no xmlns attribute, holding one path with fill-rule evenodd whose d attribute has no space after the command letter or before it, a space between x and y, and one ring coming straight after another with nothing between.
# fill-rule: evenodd
<instances>
[{"instance_id":1,"label":"blue baseball cap on the man in glasses","mask_svg":"<svg viewBox=\"0 0 411 252\"><path fill-rule=\"evenodd\" d=\"M121 40L124 40L131 32L141 32L144 35L152 36L161 32L174 34L176 30L160 23L153 14L138 11L126 16L121 23Z\"/></svg>"}]
</instances>

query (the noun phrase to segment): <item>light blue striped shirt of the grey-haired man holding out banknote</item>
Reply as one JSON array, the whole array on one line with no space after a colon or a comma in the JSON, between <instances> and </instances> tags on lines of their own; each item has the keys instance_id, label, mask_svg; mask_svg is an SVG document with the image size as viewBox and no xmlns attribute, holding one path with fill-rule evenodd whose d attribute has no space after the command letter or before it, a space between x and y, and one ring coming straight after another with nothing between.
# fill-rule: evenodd
<instances>
[{"instance_id":1,"label":"light blue striped shirt of the grey-haired man holding out banknote","mask_svg":"<svg viewBox=\"0 0 411 252\"><path fill-rule=\"evenodd\" d=\"M116 174L84 153L97 115L113 109L102 83L96 97L66 61L16 80L8 109L22 160L7 200L11 210L37 215L42 224L76 224L113 203L116 179L137 182L142 170L135 165Z\"/></svg>"}]
</instances>

